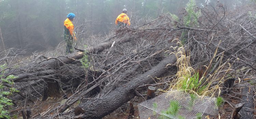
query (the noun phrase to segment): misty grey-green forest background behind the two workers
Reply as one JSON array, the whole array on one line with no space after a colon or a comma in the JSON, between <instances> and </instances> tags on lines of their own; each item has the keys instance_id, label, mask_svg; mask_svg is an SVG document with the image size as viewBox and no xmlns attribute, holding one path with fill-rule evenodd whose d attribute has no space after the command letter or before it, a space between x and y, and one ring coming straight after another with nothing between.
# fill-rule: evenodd
<instances>
[{"instance_id":1,"label":"misty grey-green forest background behind the two workers","mask_svg":"<svg viewBox=\"0 0 256 119\"><path fill-rule=\"evenodd\" d=\"M63 21L68 13L76 15L74 25L87 22L89 35L108 34L123 8L128 10L131 26L142 18L156 19L161 14L179 12L189 0L0 0L0 50L8 48L34 51L54 50L63 41ZM225 4L227 10L255 0L196 0L198 7ZM88 25L89 24L89 25ZM84 38L86 39L86 38Z\"/></svg>"}]
</instances>

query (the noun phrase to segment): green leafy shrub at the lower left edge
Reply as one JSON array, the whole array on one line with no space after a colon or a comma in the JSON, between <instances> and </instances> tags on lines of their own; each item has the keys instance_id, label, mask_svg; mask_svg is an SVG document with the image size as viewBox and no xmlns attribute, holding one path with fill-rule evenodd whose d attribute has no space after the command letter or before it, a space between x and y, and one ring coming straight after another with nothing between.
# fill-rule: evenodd
<instances>
[{"instance_id":1,"label":"green leafy shrub at the lower left edge","mask_svg":"<svg viewBox=\"0 0 256 119\"><path fill-rule=\"evenodd\" d=\"M9 75L8 77L4 78L4 69L5 65L0 66L0 118L10 119L8 106L13 105L12 100L9 97L13 94L13 92L19 92L16 88L13 87L14 82L13 79L17 78L14 75ZM12 85L10 88L6 87L4 84Z\"/></svg>"}]
</instances>

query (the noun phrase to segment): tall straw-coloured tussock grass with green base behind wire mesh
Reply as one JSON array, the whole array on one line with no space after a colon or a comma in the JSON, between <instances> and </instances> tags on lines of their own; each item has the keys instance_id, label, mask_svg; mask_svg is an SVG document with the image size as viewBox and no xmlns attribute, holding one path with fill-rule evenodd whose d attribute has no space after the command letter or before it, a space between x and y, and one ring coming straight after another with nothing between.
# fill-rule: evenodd
<instances>
[{"instance_id":1,"label":"tall straw-coloured tussock grass with green base behind wire mesh","mask_svg":"<svg viewBox=\"0 0 256 119\"><path fill-rule=\"evenodd\" d=\"M173 41L177 41L177 44L181 44L181 41L179 39L174 39ZM221 43L221 42L219 42ZM218 44L219 45L219 44ZM206 67L205 72L203 73L202 78L199 79L198 72L191 67L190 64L190 54L185 54L185 48L181 44L180 47L171 47L175 52L170 52L170 54L175 54L177 57L177 64L178 71L176 73L176 78L171 82L171 86L169 90L181 90L186 91L189 94L195 94L199 97L204 96L210 96L215 97L215 95L221 94L221 88L220 85L225 80L224 77L226 77L229 72L232 70L231 66L232 64L229 63L229 60L223 61L223 52L217 54L218 48L216 48L213 57ZM216 63L213 63L214 60L216 60ZM219 61L220 60L220 61ZM239 59L237 59L239 60ZM219 62L219 63L218 63ZM173 65L173 64L168 64ZM216 65L216 69L210 69L212 65ZM213 68L214 68L213 67ZM211 74L208 74L208 72L211 72ZM216 83L216 85L213 85L213 83Z\"/></svg>"}]
</instances>

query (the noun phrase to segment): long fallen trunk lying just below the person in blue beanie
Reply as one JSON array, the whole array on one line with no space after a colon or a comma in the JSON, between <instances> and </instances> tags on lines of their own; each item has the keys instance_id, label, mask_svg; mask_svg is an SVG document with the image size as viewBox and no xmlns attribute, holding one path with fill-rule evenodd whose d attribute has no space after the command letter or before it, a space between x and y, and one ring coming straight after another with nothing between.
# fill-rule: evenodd
<instances>
[{"instance_id":1,"label":"long fallen trunk lying just below the person in blue beanie","mask_svg":"<svg viewBox=\"0 0 256 119\"><path fill-rule=\"evenodd\" d=\"M132 39L135 39L139 36L139 33L132 34L131 36L124 37L122 39L119 39L116 41L116 44L122 44L131 41ZM104 51L106 48L111 47L113 44L113 41L107 41L103 42L101 44L98 44L94 47L88 48L88 53L100 53ZM71 64L72 62L82 58L84 56L84 53L82 51L78 51L75 53L71 53L65 56L59 56L59 57L49 57L38 64L35 64L33 66L27 66L31 71L35 72L29 72L29 73L15 73L15 75L18 75L18 78L14 79L14 82L21 82L19 80L29 78L30 76L39 76L39 75L45 75L45 74L51 74L53 73L52 69L56 69L57 67L63 66L65 64ZM46 70L46 71L45 71ZM47 71L49 70L49 71ZM26 80L22 80L22 82L26 82Z\"/></svg>"}]
</instances>

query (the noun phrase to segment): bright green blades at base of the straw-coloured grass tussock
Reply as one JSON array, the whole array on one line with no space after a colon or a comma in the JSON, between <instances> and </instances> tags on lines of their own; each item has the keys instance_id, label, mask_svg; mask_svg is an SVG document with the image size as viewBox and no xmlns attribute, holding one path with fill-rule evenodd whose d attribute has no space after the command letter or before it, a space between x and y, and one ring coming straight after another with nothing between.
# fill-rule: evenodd
<instances>
[{"instance_id":1,"label":"bright green blades at base of the straw-coloured grass tussock","mask_svg":"<svg viewBox=\"0 0 256 119\"><path fill-rule=\"evenodd\" d=\"M202 94L203 90L207 87L207 85L201 86L201 83L199 81L199 73L195 73L192 77L185 76L184 80L182 82L181 89L185 91L193 90L197 92L197 94Z\"/></svg>"}]
</instances>

